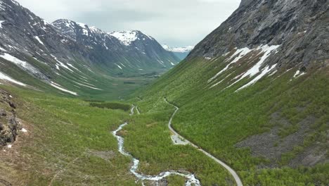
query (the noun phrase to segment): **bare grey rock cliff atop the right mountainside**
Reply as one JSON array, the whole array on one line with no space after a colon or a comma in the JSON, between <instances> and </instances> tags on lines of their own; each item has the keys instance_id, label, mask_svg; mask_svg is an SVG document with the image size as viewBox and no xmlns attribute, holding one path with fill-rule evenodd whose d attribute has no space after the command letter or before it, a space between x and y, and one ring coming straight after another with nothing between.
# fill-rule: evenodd
<instances>
[{"instance_id":1,"label":"bare grey rock cliff atop the right mountainside","mask_svg":"<svg viewBox=\"0 0 329 186\"><path fill-rule=\"evenodd\" d=\"M243 0L189 55L214 58L235 48L280 45L265 65L325 66L329 61L329 1Z\"/></svg>"}]
</instances>

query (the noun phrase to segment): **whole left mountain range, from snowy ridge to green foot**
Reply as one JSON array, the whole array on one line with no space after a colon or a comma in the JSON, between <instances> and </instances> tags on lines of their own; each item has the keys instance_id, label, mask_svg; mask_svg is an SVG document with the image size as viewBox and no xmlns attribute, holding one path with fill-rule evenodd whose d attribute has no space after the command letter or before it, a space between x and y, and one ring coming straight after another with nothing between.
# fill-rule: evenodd
<instances>
[{"instance_id":1,"label":"whole left mountain range, from snowy ridge to green foot","mask_svg":"<svg viewBox=\"0 0 329 186\"><path fill-rule=\"evenodd\" d=\"M0 9L0 78L15 85L105 96L128 92L136 81L142 83L138 76L163 73L179 61L138 31L136 40L124 44L96 27L48 23L16 1L1 0Z\"/></svg>"}]
</instances>

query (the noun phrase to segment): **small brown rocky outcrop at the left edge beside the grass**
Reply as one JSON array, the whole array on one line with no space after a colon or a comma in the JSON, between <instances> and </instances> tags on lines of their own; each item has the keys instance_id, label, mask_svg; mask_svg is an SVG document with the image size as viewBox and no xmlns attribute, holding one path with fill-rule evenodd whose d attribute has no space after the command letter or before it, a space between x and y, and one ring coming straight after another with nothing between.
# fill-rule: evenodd
<instances>
[{"instance_id":1,"label":"small brown rocky outcrop at the left edge beside the grass","mask_svg":"<svg viewBox=\"0 0 329 186\"><path fill-rule=\"evenodd\" d=\"M0 89L0 147L15 142L18 130L22 129L15 109L11 95Z\"/></svg>"}]
</instances>

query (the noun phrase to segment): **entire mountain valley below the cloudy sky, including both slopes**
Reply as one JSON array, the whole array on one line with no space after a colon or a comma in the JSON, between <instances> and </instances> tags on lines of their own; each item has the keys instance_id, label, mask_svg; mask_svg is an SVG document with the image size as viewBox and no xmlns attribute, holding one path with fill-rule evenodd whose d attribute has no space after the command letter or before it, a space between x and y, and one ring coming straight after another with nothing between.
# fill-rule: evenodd
<instances>
[{"instance_id":1,"label":"entire mountain valley below the cloudy sky, including both slopes","mask_svg":"<svg viewBox=\"0 0 329 186\"><path fill-rule=\"evenodd\" d=\"M0 185L329 185L328 10L243 0L174 48L0 0Z\"/></svg>"}]
</instances>

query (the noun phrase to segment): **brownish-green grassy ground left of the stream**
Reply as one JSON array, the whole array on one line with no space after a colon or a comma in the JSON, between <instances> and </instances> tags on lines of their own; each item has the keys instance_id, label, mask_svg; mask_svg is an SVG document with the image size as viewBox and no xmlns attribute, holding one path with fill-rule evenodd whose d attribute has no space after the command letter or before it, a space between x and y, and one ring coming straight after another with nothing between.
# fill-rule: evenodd
<instances>
[{"instance_id":1,"label":"brownish-green grassy ground left of the stream","mask_svg":"<svg viewBox=\"0 0 329 186\"><path fill-rule=\"evenodd\" d=\"M13 185L49 185L53 178L53 185L135 185L128 171L131 161L117 151L117 141L110 134L129 117L128 112L31 90L5 89L18 103L18 117L28 132L13 144L12 153L20 156L1 161L1 178ZM106 155L98 155L102 153ZM14 173L8 172L11 169Z\"/></svg>"}]
</instances>

